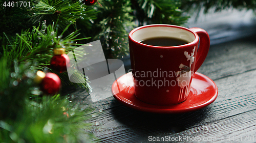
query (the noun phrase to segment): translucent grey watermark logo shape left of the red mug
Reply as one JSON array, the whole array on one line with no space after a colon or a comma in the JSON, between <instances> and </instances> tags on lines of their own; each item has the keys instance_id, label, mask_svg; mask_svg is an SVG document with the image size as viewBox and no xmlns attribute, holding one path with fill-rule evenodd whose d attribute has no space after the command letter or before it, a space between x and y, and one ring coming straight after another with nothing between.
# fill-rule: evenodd
<instances>
[{"instance_id":1,"label":"translucent grey watermark logo shape left of the red mug","mask_svg":"<svg viewBox=\"0 0 256 143\"><path fill-rule=\"evenodd\" d=\"M124 75L125 69L121 60L105 59L100 40L79 46L67 55L71 65L67 67L69 80L83 83L87 77L92 89L92 102L113 96L108 86Z\"/></svg>"}]
</instances>

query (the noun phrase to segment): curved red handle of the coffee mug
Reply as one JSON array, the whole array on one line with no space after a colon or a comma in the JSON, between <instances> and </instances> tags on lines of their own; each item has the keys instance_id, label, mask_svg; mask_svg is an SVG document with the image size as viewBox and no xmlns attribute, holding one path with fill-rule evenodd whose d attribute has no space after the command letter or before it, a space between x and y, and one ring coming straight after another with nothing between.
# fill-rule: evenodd
<instances>
[{"instance_id":1,"label":"curved red handle of the coffee mug","mask_svg":"<svg viewBox=\"0 0 256 143\"><path fill-rule=\"evenodd\" d=\"M208 33L203 30L202 28L189 28L191 31L194 31L195 33L197 33L197 35L200 38L200 44L199 44L199 49L197 51L197 56L196 56L196 65L195 65L195 70L194 73L200 68L200 66L203 64L207 53L209 51L210 48L210 38Z\"/></svg>"}]
</instances>

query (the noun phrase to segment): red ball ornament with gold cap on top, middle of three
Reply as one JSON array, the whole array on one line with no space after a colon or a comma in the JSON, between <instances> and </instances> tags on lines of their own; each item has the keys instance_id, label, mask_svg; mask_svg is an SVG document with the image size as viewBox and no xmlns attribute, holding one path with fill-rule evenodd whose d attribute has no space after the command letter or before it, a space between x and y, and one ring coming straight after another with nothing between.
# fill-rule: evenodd
<instances>
[{"instance_id":1,"label":"red ball ornament with gold cap on top, middle of three","mask_svg":"<svg viewBox=\"0 0 256 143\"><path fill-rule=\"evenodd\" d=\"M65 54L64 48L57 48L53 50L54 56L51 60L51 67L53 70L62 73L67 71L67 66L70 66L70 59Z\"/></svg>"}]
</instances>

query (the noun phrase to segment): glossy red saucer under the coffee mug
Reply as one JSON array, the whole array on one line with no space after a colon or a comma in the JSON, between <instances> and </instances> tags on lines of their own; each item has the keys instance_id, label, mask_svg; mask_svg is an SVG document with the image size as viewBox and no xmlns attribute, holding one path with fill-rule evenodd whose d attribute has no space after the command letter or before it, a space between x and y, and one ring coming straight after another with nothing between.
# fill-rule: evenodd
<instances>
[{"instance_id":1,"label":"glossy red saucer under the coffee mug","mask_svg":"<svg viewBox=\"0 0 256 143\"><path fill-rule=\"evenodd\" d=\"M132 72L129 72L112 84L112 94L116 100L125 106L137 110L157 113L182 113L204 108L214 102L218 96L218 88L209 77L196 72L191 82L189 96L184 102L167 106L152 105L136 98Z\"/></svg>"}]
</instances>

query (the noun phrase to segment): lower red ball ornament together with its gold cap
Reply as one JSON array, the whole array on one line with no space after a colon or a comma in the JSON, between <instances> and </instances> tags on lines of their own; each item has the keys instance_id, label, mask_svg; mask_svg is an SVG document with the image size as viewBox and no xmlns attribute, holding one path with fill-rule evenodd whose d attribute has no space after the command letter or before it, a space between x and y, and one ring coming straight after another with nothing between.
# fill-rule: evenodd
<instances>
[{"instance_id":1,"label":"lower red ball ornament together with its gold cap","mask_svg":"<svg viewBox=\"0 0 256 143\"><path fill-rule=\"evenodd\" d=\"M46 95L55 95L59 92L61 81L55 73L44 73L37 71L34 78L36 83L39 83L41 91Z\"/></svg>"}]
</instances>

